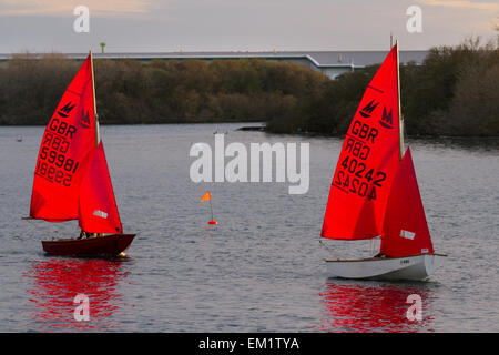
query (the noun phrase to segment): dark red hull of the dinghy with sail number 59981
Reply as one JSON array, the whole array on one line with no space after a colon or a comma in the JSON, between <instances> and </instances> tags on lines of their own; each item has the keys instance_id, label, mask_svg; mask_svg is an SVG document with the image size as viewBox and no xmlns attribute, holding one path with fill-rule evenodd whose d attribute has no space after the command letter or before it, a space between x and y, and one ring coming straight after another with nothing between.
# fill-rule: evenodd
<instances>
[{"instance_id":1,"label":"dark red hull of the dinghy with sail number 59981","mask_svg":"<svg viewBox=\"0 0 499 355\"><path fill-rule=\"evenodd\" d=\"M42 241L43 251L52 255L119 255L132 244L135 234L110 234L88 239Z\"/></svg>"}]
</instances>

